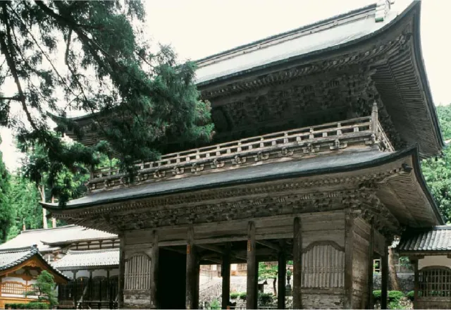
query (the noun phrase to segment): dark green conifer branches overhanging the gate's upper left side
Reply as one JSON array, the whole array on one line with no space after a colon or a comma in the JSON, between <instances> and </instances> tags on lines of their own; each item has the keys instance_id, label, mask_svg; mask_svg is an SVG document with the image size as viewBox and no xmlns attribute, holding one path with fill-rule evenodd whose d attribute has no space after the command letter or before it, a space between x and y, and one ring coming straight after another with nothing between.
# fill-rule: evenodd
<instances>
[{"instance_id":1,"label":"dark green conifer branches overhanging the gate's upper left side","mask_svg":"<svg viewBox=\"0 0 451 310\"><path fill-rule=\"evenodd\" d=\"M135 161L206 142L214 133L210 105L194 84L194 63L177 63L168 46L152 52L144 15L141 1L0 2L0 87L15 85L2 87L8 93L0 97L0 125L15 130L23 150L42 147L47 159L33 159L34 172L48 173L61 204L73 198L68 171L96 166L98 152L118 154L132 178ZM11 106L23 113L13 117ZM85 147L56 137L49 113L65 117L70 110L92 114L87 130L104 141ZM58 132L86 135L70 120L57 123ZM43 180L33 171L27 176Z\"/></svg>"}]
</instances>

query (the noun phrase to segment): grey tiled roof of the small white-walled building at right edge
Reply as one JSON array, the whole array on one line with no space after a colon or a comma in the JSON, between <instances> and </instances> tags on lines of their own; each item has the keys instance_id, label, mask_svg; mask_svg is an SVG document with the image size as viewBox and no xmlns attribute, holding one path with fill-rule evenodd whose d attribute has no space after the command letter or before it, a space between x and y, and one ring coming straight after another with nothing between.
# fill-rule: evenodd
<instances>
[{"instance_id":1,"label":"grey tiled roof of the small white-walled building at right edge","mask_svg":"<svg viewBox=\"0 0 451 310\"><path fill-rule=\"evenodd\" d=\"M429 230L408 230L401 237L399 252L451 252L451 225L435 226Z\"/></svg>"}]
</instances>

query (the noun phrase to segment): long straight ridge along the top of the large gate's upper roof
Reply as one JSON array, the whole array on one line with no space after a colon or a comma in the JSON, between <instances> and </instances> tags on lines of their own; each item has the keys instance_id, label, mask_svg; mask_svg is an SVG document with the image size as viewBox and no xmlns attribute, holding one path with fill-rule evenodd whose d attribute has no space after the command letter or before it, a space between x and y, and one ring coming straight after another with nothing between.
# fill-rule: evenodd
<instances>
[{"instance_id":1,"label":"long straight ridge along the top of the large gate's upper roof","mask_svg":"<svg viewBox=\"0 0 451 310\"><path fill-rule=\"evenodd\" d=\"M269 42L269 41L271 41L273 39L282 38L282 37L285 37L287 35L294 35L297 32L302 32L302 31L309 30L309 29L313 30L314 28L321 27L322 25L326 25L326 24L331 23L331 22L333 22L335 20L338 20L338 19L341 19L341 18L346 18L346 17L352 16L352 15L358 14L358 13L364 13L365 11L369 11L369 10L372 10L372 9L375 9L375 8L376 8L376 3L369 4L367 6L363 6L361 8L356 8L354 10L347 11L345 13L341 13L341 14L338 14L338 15L335 15L335 16L331 16L331 17L325 18L323 20L317 20L314 23L303 25L301 27L297 27L297 28L292 29L292 30L288 30L288 31L285 31L285 32L280 32L280 33L278 33L276 35L271 35L271 36L268 36L268 37L264 37L262 39L258 39L256 41L254 41L254 42L250 42L250 43L247 43L247 44L242 44L242 45L239 45L239 46L235 46L232 49L226 49L225 51L221 51L219 53L216 53L216 54L213 54L213 55L210 55L210 56L206 56L204 58L197 59L196 61L194 61L194 63L199 64L199 67L201 67L202 63L204 61L213 60L214 58L218 58L220 56L226 56L227 54L231 54L233 52L240 51L241 49L249 49L252 46L256 46L258 44ZM208 65L205 65L205 66L208 66Z\"/></svg>"}]
</instances>

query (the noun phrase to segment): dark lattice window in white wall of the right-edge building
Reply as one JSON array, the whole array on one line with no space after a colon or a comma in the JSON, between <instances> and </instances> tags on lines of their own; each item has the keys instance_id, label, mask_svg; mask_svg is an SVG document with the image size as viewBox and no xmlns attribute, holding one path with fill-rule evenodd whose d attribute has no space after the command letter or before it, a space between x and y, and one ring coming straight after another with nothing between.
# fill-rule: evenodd
<instances>
[{"instance_id":1,"label":"dark lattice window in white wall of the right-edge building","mask_svg":"<svg viewBox=\"0 0 451 310\"><path fill-rule=\"evenodd\" d=\"M419 271L419 297L451 297L451 269L430 266Z\"/></svg>"}]
</instances>

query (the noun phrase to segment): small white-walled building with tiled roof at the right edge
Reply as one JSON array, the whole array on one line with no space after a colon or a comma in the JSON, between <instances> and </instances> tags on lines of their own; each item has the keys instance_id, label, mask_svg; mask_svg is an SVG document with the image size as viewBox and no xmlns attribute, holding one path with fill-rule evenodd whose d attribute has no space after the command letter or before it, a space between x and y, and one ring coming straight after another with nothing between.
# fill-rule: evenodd
<instances>
[{"instance_id":1,"label":"small white-walled building with tiled roof at the right edge","mask_svg":"<svg viewBox=\"0 0 451 310\"><path fill-rule=\"evenodd\" d=\"M450 309L451 225L407 230L397 252L414 264L414 308Z\"/></svg>"}]
</instances>

